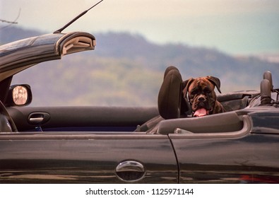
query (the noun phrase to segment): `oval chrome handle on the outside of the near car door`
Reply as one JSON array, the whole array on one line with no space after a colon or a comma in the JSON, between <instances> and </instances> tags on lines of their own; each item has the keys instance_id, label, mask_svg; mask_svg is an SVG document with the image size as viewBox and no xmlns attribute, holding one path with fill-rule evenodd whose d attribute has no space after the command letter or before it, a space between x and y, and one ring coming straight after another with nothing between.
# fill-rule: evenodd
<instances>
[{"instance_id":1,"label":"oval chrome handle on the outside of the near car door","mask_svg":"<svg viewBox=\"0 0 279 198\"><path fill-rule=\"evenodd\" d=\"M125 182L136 182L146 175L146 168L138 161L123 161L115 168L117 177Z\"/></svg>"}]
</instances>

